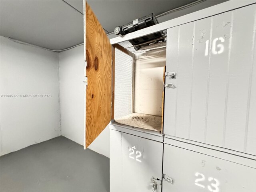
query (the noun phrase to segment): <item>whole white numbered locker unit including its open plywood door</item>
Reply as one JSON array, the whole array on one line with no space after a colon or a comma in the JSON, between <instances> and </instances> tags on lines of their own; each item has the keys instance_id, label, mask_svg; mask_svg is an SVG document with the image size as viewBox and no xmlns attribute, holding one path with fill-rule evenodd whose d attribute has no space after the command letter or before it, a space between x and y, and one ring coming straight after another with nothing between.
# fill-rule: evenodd
<instances>
[{"instance_id":1,"label":"whole white numbered locker unit including its open plywood door","mask_svg":"<svg viewBox=\"0 0 256 192\"><path fill-rule=\"evenodd\" d=\"M255 3L117 37L112 50L85 4L85 146L111 121L111 191L255 190ZM159 31L167 44L129 42Z\"/></svg>"}]
</instances>

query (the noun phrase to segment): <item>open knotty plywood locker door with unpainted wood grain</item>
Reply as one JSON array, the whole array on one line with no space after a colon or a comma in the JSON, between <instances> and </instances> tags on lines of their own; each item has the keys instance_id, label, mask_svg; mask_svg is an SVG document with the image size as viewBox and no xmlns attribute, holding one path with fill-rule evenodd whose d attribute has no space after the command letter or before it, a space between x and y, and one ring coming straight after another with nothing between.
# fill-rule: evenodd
<instances>
[{"instance_id":1,"label":"open knotty plywood locker door with unpainted wood grain","mask_svg":"<svg viewBox=\"0 0 256 192\"><path fill-rule=\"evenodd\" d=\"M104 130L111 117L111 44L86 2L86 148Z\"/></svg>"}]
</instances>

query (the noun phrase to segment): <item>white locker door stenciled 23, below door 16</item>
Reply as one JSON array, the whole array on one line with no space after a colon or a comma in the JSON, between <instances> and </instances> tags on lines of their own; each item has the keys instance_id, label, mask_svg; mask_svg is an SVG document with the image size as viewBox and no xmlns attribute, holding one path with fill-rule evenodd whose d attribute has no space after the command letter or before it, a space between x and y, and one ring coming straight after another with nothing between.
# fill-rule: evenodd
<instances>
[{"instance_id":1,"label":"white locker door stenciled 23, below door 16","mask_svg":"<svg viewBox=\"0 0 256 192\"><path fill-rule=\"evenodd\" d=\"M249 192L256 190L256 169L164 144L163 192Z\"/></svg>"}]
</instances>

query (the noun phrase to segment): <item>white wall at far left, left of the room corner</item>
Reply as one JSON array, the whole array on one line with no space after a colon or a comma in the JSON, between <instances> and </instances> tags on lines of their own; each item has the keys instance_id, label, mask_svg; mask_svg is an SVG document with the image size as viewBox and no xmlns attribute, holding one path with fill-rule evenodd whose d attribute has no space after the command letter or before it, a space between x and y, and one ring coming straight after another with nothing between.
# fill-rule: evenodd
<instances>
[{"instance_id":1,"label":"white wall at far left, left of the room corner","mask_svg":"<svg viewBox=\"0 0 256 192\"><path fill-rule=\"evenodd\" d=\"M60 136L58 54L0 37L1 155ZM24 98L24 94L51 94ZM22 97L20 97L22 95Z\"/></svg>"}]
</instances>

